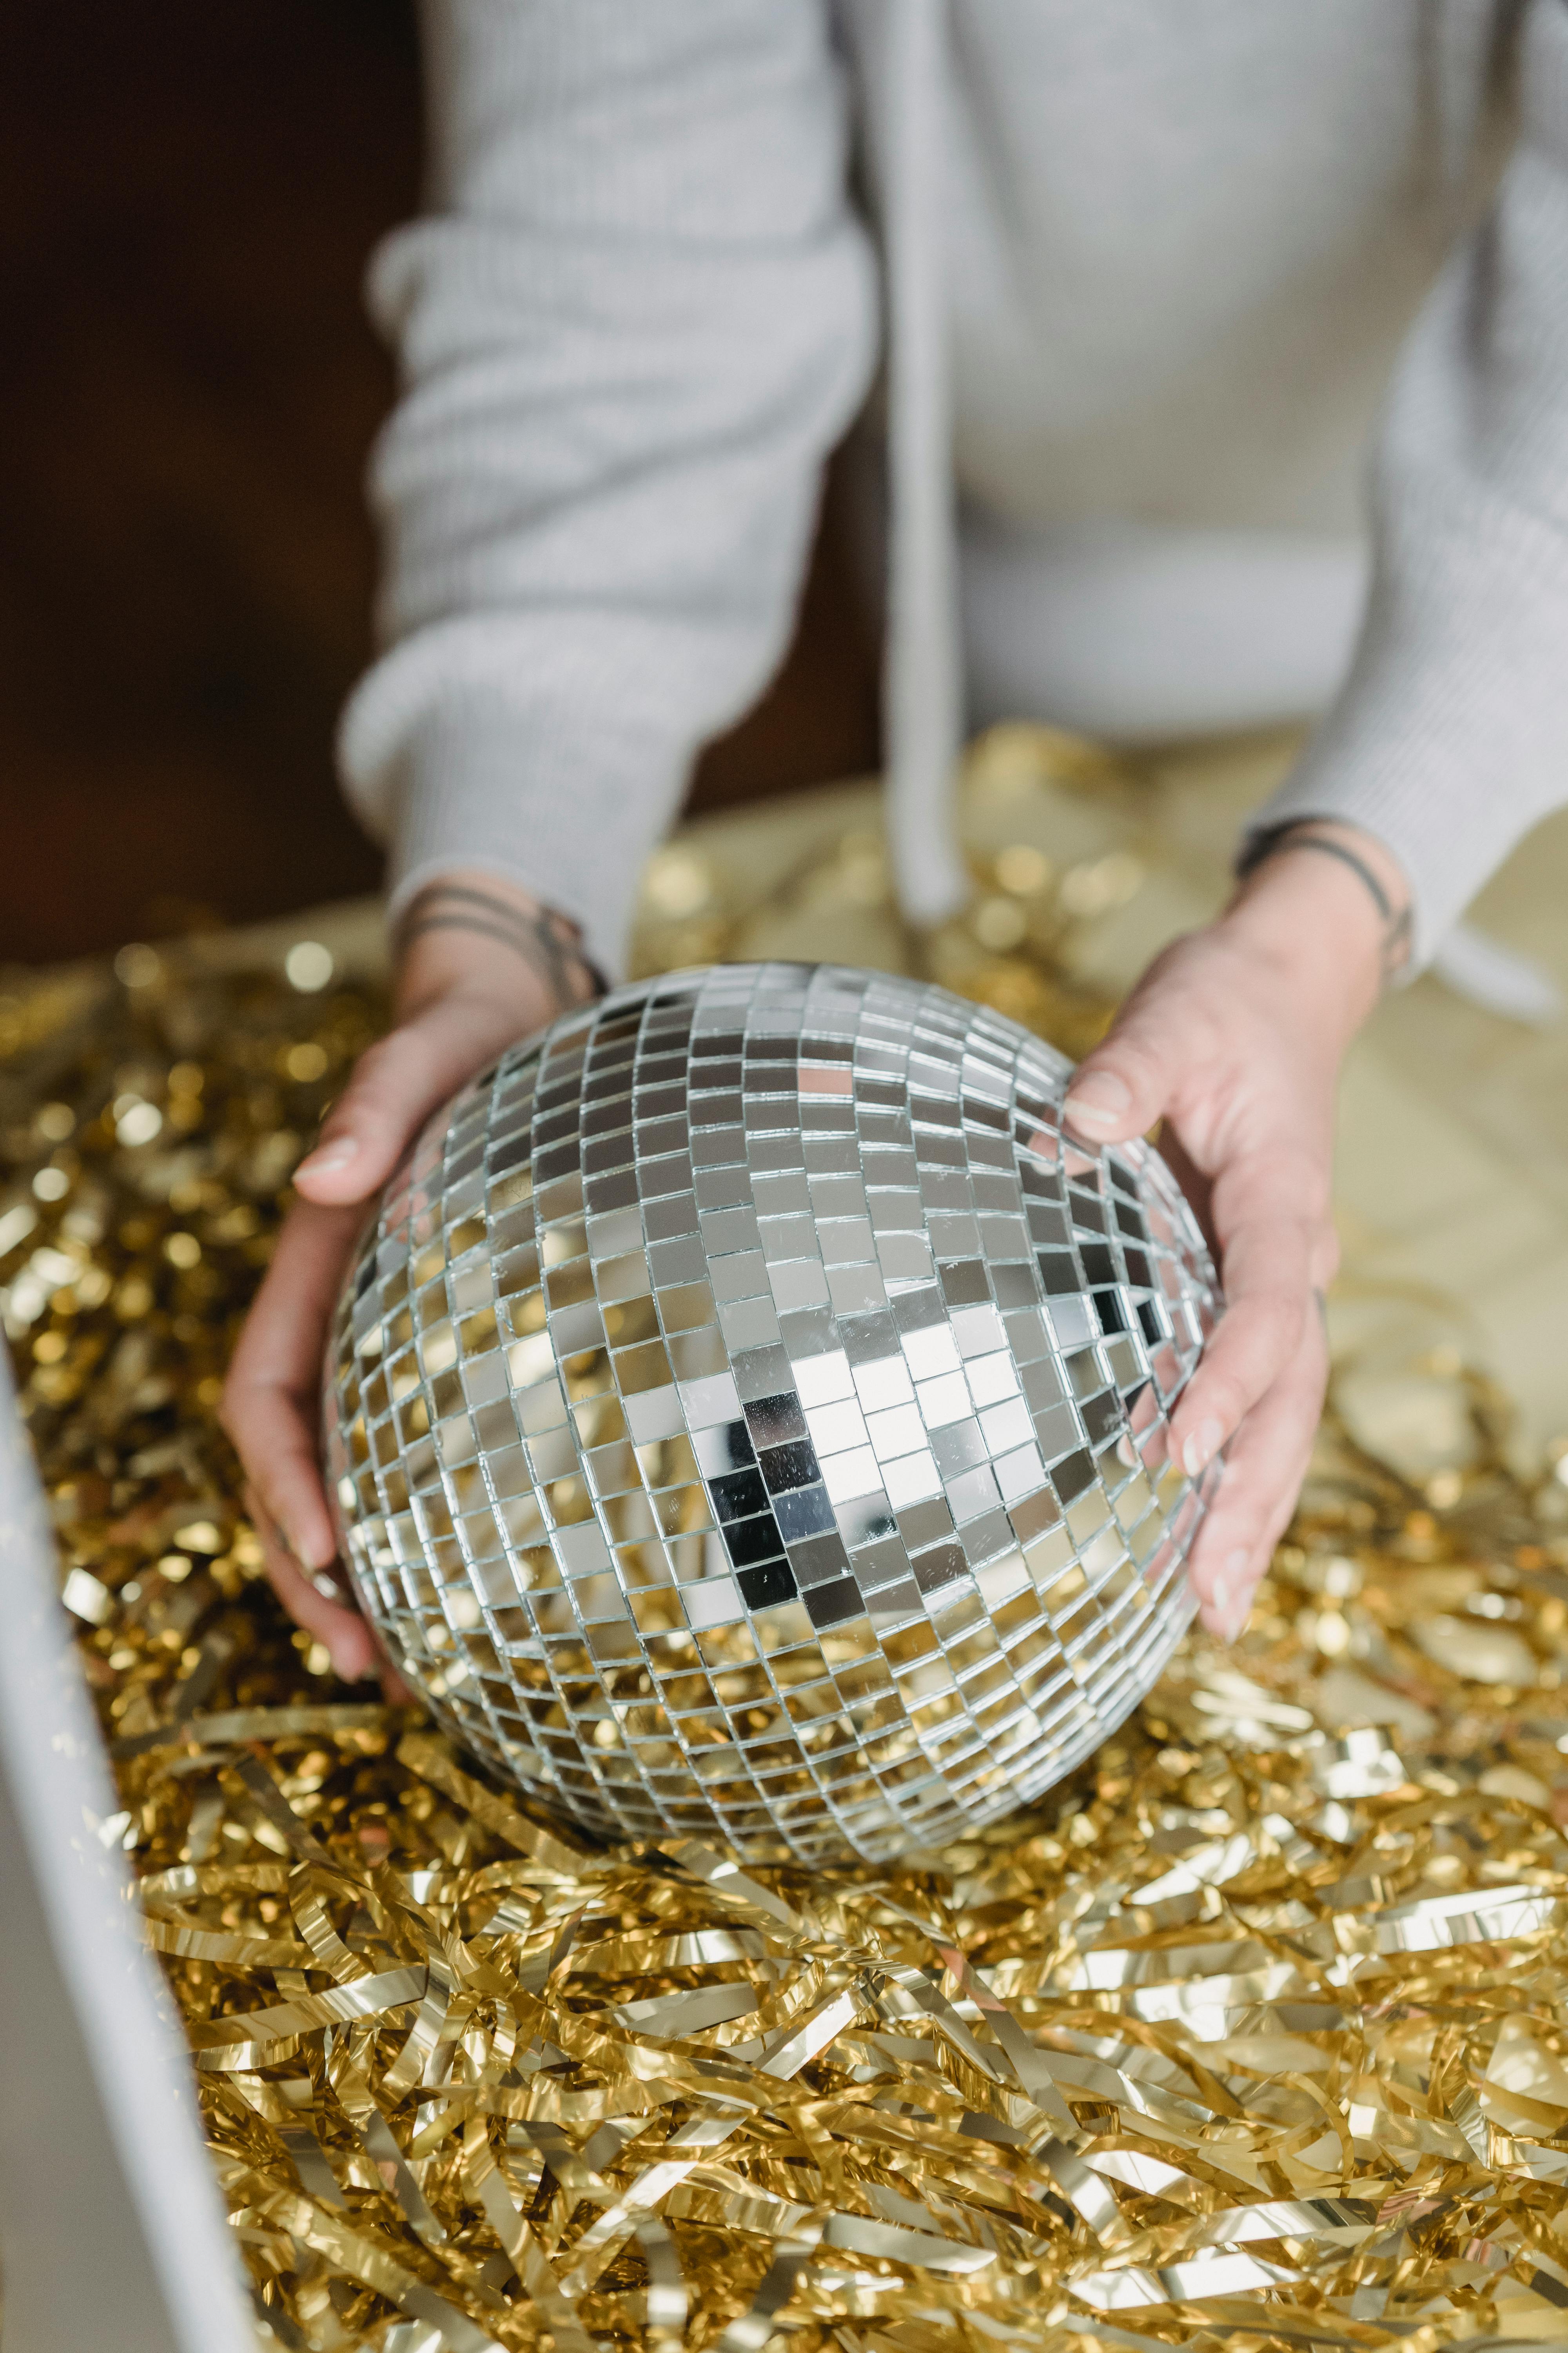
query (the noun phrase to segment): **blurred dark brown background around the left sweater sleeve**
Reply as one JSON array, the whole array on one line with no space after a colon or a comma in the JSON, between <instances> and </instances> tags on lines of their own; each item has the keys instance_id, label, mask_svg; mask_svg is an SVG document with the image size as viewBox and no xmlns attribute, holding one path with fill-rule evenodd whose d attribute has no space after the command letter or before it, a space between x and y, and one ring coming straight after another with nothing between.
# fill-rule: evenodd
<instances>
[{"instance_id":1,"label":"blurred dark brown background around the left sweater sleeve","mask_svg":"<svg viewBox=\"0 0 1568 2353\"><path fill-rule=\"evenodd\" d=\"M374 889L331 729L369 659L360 280L418 198L404 0L0 16L0 962ZM875 760L830 494L715 807Z\"/></svg>"}]
</instances>

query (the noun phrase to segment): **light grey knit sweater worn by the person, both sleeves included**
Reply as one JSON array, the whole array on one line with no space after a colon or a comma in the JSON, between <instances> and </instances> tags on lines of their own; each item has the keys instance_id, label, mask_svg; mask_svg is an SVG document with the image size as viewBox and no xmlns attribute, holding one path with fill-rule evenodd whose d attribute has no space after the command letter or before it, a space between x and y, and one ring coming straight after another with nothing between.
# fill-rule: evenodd
<instances>
[{"instance_id":1,"label":"light grey knit sweater worn by the person, both sleeves included","mask_svg":"<svg viewBox=\"0 0 1568 2353\"><path fill-rule=\"evenodd\" d=\"M425 45L430 205L371 268L386 652L341 744L397 896L489 866L616 967L788 640L877 240L917 911L987 560L1046 715L1088 661L1114 727L1164 661L1215 722L1227 680L1267 715L1269 600L1281 680L1333 682L1349 607L1300 581L1371 532L1354 664L1260 821L1382 835L1422 955L1568 800L1568 0L425 0ZM1180 722L1161 694L1124 732Z\"/></svg>"}]
</instances>

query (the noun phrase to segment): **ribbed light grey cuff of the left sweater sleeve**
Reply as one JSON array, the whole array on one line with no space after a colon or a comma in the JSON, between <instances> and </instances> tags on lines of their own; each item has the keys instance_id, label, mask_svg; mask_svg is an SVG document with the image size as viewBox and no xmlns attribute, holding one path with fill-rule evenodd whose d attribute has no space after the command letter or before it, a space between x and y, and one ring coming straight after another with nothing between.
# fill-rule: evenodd
<instances>
[{"instance_id":1,"label":"ribbed light grey cuff of the left sweater sleeve","mask_svg":"<svg viewBox=\"0 0 1568 2353\"><path fill-rule=\"evenodd\" d=\"M407 732L378 807L362 807L390 816L388 920L425 882L484 868L571 918L618 981L642 868L684 784L682 751L646 734L555 734L545 713L498 694L435 706Z\"/></svg>"}]
</instances>

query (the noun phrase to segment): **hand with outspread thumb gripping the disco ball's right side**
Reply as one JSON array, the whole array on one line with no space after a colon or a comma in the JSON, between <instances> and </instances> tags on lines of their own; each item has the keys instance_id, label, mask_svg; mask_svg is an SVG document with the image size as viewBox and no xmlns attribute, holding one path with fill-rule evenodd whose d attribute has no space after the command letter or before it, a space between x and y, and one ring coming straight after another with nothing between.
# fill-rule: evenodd
<instances>
[{"instance_id":1,"label":"hand with outspread thumb gripping the disco ball's right side","mask_svg":"<svg viewBox=\"0 0 1568 2353\"><path fill-rule=\"evenodd\" d=\"M1349 826L1312 833L1354 845L1403 906L1380 842ZM1166 1122L1220 1259L1225 1315L1171 1417L1171 1452L1197 1478L1227 1447L1192 1553L1204 1624L1227 1642L1295 1508L1324 1407L1335 1080L1378 1000L1387 939L1349 866L1281 847L1215 925L1150 965L1067 1092L1067 1120L1093 1144Z\"/></svg>"}]
</instances>

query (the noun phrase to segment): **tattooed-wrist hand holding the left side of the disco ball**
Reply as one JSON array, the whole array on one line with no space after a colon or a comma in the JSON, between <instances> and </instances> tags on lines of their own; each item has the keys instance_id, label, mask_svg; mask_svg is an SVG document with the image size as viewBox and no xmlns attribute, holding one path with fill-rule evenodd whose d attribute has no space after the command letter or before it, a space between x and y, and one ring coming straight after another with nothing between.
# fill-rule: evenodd
<instances>
[{"instance_id":1,"label":"tattooed-wrist hand holding the left side of the disco ball","mask_svg":"<svg viewBox=\"0 0 1568 2353\"><path fill-rule=\"evenodd\" d=\"M400 925L395 1028L360 1056L315 1151L294 1169L299 1200L228 1367L223 1426L244 1466L273 1591L348 1682L381 1664L331 1567L336 1534L320 1471L322 1351L348 1257L421 1122L515 1038L595 988L576 929L527 892L489 873L433 882Z\"/></svg>"}]
</instances>

